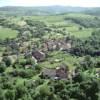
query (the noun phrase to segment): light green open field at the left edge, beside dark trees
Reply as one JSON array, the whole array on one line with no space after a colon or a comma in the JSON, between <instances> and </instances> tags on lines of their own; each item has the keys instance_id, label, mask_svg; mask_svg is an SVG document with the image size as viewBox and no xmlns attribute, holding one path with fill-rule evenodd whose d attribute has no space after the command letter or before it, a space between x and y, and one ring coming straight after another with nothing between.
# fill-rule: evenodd
<instances>
[{"instance_id":1,"label":"light green open field at the left edge, beside dark trees","mask_svg":"<svg viewBox=\"0 0 100 100\"><path fill-rule=\"evenodd\" d=\"M0 28L0 39L4 40L6 38L15 38L17 36L17 31L10 28Z\"/></svg>"}]
</instances>

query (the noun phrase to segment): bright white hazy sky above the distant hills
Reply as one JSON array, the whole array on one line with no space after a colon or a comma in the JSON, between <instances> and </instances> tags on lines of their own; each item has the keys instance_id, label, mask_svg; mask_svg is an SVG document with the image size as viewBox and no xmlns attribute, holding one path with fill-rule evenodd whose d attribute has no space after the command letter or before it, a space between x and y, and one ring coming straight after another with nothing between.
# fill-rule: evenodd
<instances>
[{"instance_id":1,"label":"bright white hazy sky above the distant hills","mask_svg":"<svg viewBox=\"0 0 100 100\"><path fill-rule=\"evenodd\" d=\"M0 0L0 6L78 6L100 7L100 0Z\"/></svg>"}]
</instances>

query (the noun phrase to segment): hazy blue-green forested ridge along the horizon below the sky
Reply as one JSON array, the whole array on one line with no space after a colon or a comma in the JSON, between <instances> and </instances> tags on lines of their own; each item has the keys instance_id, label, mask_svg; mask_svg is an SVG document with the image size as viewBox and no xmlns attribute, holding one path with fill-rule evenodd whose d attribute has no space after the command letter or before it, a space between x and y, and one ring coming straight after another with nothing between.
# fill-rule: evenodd
<instances>
[{"instance_id":1,"label":"hazy blue-green forested ridge along the horizon below the sky","mask_svg":"<svg viewBox=\"0 0 100 100\"><path fill-rule=\"evenodd\" d=\"M0 7L0 14L6 15L52 15L62 14L68 12L86 12L89 14L96 14L99 12L99 7L72 7L72 6L38 6L38 7L22 7L22 6L5 6Z\"/></svg>"}]
</instances>

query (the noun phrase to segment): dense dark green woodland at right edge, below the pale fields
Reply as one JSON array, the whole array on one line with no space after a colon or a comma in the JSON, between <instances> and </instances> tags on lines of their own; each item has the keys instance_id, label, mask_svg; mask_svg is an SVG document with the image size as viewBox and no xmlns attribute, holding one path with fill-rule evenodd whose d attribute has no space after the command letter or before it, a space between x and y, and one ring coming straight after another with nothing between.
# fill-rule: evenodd
<instances>
[{"instance_id":1,"label":"dense dark green woodland at right edge, below the pale fields","mask_svg":"<svg viewBox=\"0 0 100 100\"><path fill-rule=\"evenodd\" d=\"M92 33L92 35L85 40L76 39L73 41L73 46L71 48L71 53L82 56L82 55L91 55L99 56L100 55L100 30L97 30Z\"/></svg>"}]
</instances>

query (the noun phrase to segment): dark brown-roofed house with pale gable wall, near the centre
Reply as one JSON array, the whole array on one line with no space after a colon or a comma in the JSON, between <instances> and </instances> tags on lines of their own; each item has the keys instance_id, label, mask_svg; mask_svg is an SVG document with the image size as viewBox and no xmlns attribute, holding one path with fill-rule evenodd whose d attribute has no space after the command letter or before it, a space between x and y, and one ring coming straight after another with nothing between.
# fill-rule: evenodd
<instances>
[{"instance_id":1,"label":"dark brown-roofed house with pale gable wall, near the centre","mask_svg":"<svg viewBox=\"0 0 100 100\"><path fill-rule=\"evenodd\" d=\"M43 53L43 52L41 52L41 51L39 51L39 50L32 51L32 56L33 56L38 62L44 61L45 58L46 58L45 53Z\"/></svg>"}]
</instances>

